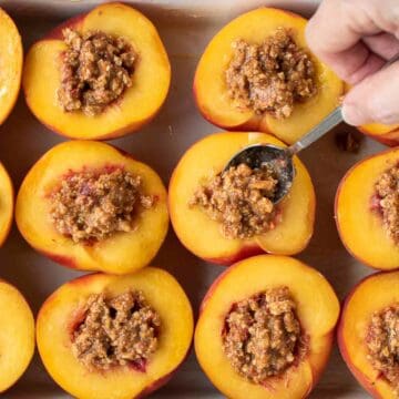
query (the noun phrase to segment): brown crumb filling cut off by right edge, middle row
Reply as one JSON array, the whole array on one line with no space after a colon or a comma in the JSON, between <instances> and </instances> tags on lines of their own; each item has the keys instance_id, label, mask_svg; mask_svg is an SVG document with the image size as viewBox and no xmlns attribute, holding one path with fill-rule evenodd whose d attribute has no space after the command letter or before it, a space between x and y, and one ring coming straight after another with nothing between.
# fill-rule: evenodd
<instances>
[{"instance_id":1,"label":"brown crumb filling cut off by right edge, middle row","mask_svg":"<svg viewBox=\"0 0 399 399\"><path fill-rule=\"evenodd\" d=\"M376 192L383 228L399 245L399 163L381 174L376 183Z\"/></svg>"}]
</instances>

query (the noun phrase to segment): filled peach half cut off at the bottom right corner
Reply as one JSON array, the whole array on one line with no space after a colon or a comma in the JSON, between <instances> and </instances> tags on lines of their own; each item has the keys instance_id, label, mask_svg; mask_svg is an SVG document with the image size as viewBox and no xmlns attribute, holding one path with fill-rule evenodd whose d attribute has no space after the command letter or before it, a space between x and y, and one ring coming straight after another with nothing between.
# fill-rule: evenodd
<instances>
[{"instance_id":1,"label":"filled peach half cut off at the bottom right corner","mask_svg":"<svg viewBox=\"0 0 399 399\"><path fill-rule=\"evenodd\" d=\"M376 273L348 295L338 327L340 352L374 397L399 393L399 272Z\"/></svg>"}]
</instances>

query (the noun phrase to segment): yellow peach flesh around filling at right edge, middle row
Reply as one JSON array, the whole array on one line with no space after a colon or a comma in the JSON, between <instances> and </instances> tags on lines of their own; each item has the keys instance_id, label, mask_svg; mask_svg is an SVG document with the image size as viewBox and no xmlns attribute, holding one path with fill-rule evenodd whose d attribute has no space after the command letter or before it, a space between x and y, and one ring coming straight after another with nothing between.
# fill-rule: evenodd
<instances>
[{"instance_id":1,"label":"yellow peach flesh around filling at right edge, middle row","mask_svg":"<svg viewBox=\"0 0 399 399\"><path fill-rule=\"evenodd\" d=\"M378 269L399 267L399 246L389 238L371 201L378 177L399 161L399 150L379 153L356 164L342 178L336 196L336 222L347 249Z\"/></svg>"}]
</instances>

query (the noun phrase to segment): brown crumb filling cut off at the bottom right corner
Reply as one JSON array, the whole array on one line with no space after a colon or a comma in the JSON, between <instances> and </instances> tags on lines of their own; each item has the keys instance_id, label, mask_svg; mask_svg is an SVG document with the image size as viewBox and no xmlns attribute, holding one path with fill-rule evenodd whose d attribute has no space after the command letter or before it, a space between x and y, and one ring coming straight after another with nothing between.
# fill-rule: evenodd
<instances>
[{"instance_id":1,"label":"brown crumb filling cut off at the bottom right corner","mask_svg":"<svg viewBox=\"0 0 399 399\"><path fill-rule=\"evenodd\" d=\"M372 315L366 340L369 360L399 398L399 303Z\"/></svg>"}]
</instances>

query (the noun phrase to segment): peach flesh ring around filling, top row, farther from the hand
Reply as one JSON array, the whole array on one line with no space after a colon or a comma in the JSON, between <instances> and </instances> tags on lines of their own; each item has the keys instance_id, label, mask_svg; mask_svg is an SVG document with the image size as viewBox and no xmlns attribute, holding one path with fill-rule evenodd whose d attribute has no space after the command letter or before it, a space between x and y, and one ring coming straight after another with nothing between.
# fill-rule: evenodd
<instances>
[{"instance_id":1,"label":"peach flesh ring around filling, top row, farther from the hand","mask_svg":"<svg viewBox=\"0 0 399 399\"><path fill-rule=\"evenodd\" d=\"M62 53L66 49L64 28L122 37L139 53L132 86L101 114L64 112L58 101ZM137 131L147 123L162 106L170 82L171 65L155 27L141 12L114 2L64 22L33 44L27 55L22 85L28 106L49 129L72 139L105 140Z\"/></svg>"}]
</instances>

